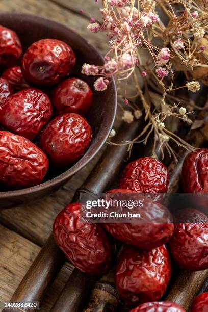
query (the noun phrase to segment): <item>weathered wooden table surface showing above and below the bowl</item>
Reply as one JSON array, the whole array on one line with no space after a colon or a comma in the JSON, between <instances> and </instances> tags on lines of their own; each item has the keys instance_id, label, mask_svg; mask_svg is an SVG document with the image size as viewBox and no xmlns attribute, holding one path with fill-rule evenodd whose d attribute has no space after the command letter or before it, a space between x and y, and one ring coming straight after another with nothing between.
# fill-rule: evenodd
<instances>
[{"instance_id":1,"label":"weathered wooden table surface showing above and below the bowl","mask_svg":"<svg viewBox=\"0 0 208 312\"><path fill-rule=\"evenodd\" d=\"M86 30L89 17L99 15L99 3L94 0L1 0L0 10L32 13L57 20L80 33L102 53L107 50L105 34L95 35ZM0 301L11 298L49 236L56 215L70 202L75 189L93 169L99 155L56 193L34 203L0 211ZM72 269L70 264L65 264L43 298L40 311L49 311Z\"/></svg>"}]
</instances>

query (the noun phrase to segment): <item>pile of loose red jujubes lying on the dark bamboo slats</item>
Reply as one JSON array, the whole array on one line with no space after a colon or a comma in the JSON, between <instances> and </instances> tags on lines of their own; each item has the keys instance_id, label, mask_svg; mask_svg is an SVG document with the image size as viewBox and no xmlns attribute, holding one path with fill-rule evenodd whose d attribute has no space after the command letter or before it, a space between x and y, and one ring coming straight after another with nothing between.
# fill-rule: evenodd
<instances>
[{"instance_id":1,"label":"pile of loose red jujubes lying on the dark bamboo slats","mask_svg":"<svg viewBox=\"0 0 208 312\"><path fill-rule=\"evenodd\" d=\"M185 192L207 192L208 149L187 155L182 179ZM178 212L181 223L168 221L173 219L162 196L168 184L168 170L162 162L140 158L126 166L119 188L106 194L138 193L138 198L145 194L142 222L84 223L80 203L69 204L54 222L56 243L76 268L102 275L116 266L117 291L129 309L134 308L132 312L184 312L176 303L160 301L170 282L172 264L191 271L208 269L208 217L185 206ZM203 210L203 202L201 207ZM154 221L157 215L163 222ZM117 260L115 241L123 242ZM194 300L191 311L208 311L208 293Z\"/></svg>"}]
</instances>

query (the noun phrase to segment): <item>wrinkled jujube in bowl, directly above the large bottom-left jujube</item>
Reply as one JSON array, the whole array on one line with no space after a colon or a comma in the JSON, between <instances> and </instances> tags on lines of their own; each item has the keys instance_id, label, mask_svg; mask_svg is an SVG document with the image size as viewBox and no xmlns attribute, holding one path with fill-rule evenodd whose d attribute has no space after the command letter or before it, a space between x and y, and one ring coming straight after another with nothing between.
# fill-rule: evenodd
<instances>
[{"instance_id":1,"label":"wrinkled jujube in bowl, directly above the large bottom-left jujube","mask_svg":"<svg viewBox=\"0 0 208 312\"><path fill-rule=\"evenodd\" d=\"M4 100L0 106L0 123L8 130L33 140L52 113L49 97L38 89L29 88Z\"/></svg>"}]
</instances>

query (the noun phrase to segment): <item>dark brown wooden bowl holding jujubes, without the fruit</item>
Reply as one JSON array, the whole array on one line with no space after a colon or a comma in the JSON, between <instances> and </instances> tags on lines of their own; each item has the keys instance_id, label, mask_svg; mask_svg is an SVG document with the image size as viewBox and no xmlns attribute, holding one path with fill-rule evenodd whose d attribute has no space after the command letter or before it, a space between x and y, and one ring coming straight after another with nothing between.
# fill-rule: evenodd
<instances>
[{"instance_id":1,"label":"dark brown wooden bowl holding jujubes, without the fruit","mask_svg":"<svg viewBox=\"0 0 208 312\"><path fill-rule=\"evenodd\" d=\"M103 59L98 51L80 35L55 21L21 13L0 13L0 24L18 34L23 50L27 49L33 42L43 38L54 38L68 43L73 48L77 60L72 75L81 77L94 90L93 83L96 77L82 75L82 65L84 63L102 65ZM9 188L4 189L1 185L3 192L0 192L0 209L48 195L86 166L106 142L115 119L116 106L117 95L113 81L106 91L94 92L93 105L87 116L92 127L93 140L85 155L65 172L50 168L43 183L35 187L11 190Z\"/></svg>"}]
</instances>

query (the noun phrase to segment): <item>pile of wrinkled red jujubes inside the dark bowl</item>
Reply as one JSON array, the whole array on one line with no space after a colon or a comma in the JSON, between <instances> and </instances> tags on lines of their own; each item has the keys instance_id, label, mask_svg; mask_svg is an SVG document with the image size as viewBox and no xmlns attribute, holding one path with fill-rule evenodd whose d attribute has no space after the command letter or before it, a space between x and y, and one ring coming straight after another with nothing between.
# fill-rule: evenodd
<instances>
[{"instance_id":1,"label":"pile of wrinkled red jujubes inside the dark bowl","mask_svg":"<svg viewBox=\"0 0 208 312\"><path fill-rule=\"evenodd\" d=\"M92 140L84 116L93 94L86 82L69 77L72 48L42 39L21 55L17 34L0 26L0 181L16 189L40 184L49 165L68 169Z\"/></svg>"}]
</instances>

